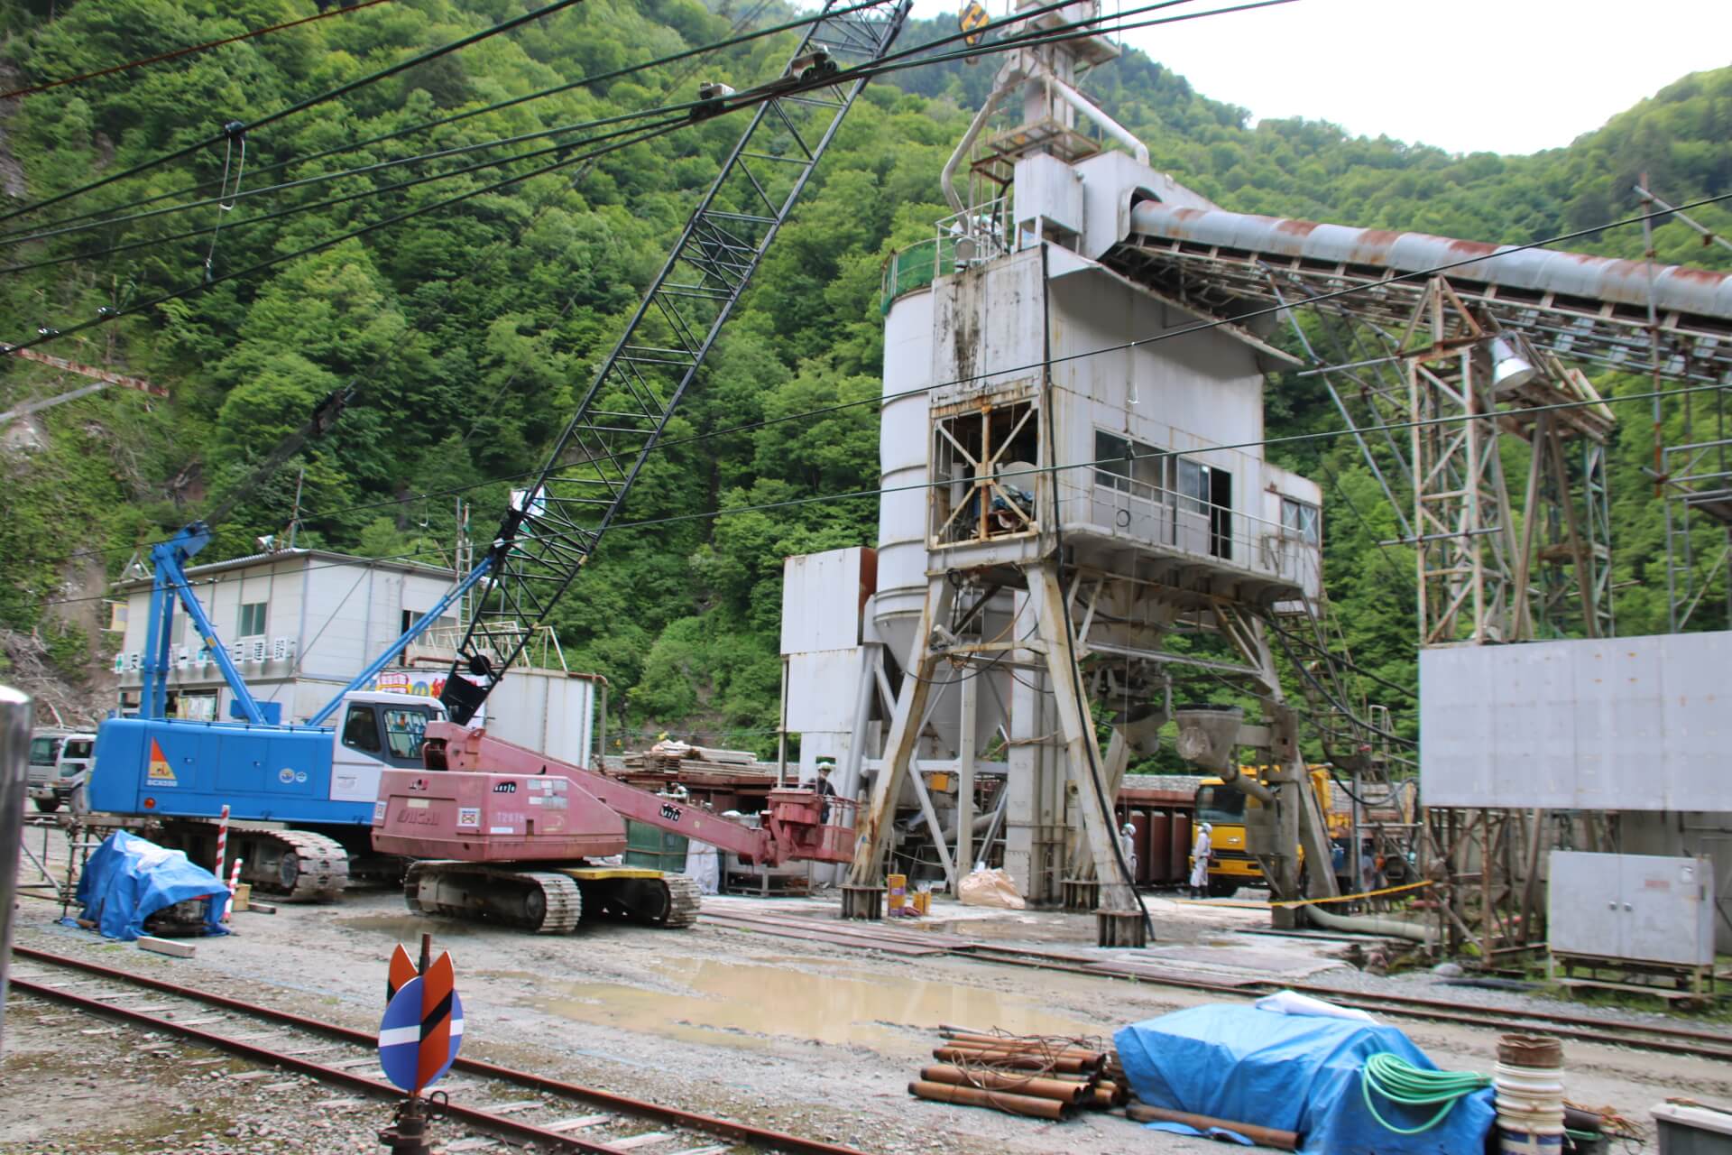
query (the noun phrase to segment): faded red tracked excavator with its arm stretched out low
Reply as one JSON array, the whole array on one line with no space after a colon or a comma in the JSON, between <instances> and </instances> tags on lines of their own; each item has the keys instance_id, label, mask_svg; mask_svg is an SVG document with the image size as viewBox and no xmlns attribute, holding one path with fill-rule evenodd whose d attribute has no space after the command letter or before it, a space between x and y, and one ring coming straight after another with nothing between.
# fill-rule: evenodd
<instances>
[{"instance_id":1,"label":"faded red tracked excavator with its arm stretched out low","mask_svg":"<svg viewBox=\"0 0 1732 1155\"><path fill-rule=\"evenodd\" d=\"M385 771L372 845L423 859L404 897L421 914L481 918L558 935L585 913L689 926L698 887L684 874L591 864L625 850L625 823L707 842L748 862L850 862L843 803L816 790L772 790L762 826L615 781L492 738L430 722L426 771Z\"/></svg>"}]
</instances>

